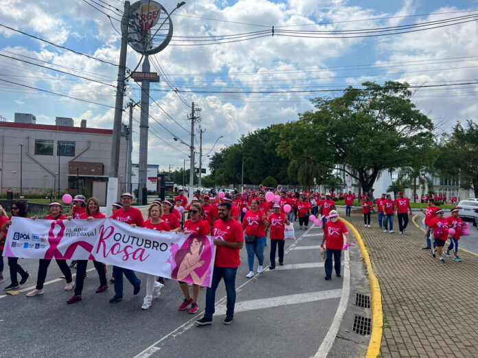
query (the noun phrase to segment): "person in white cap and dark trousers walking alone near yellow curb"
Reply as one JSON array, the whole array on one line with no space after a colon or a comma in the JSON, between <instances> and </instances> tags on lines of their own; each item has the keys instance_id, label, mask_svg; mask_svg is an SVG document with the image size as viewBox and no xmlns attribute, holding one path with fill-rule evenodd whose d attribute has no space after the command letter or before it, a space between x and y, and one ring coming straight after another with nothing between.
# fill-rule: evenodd
<instances>
[{"instance_id":1,"label":"person in white cap and dark trousers walking alone near yellow curb","mask_svg":"<svg viewBox=\"0 0 478 358\"><path fill-rule=\"evenodd\" d=\"M334 268L337 277L341 277L341 254L343 250L343 235L347 239L347 245L350 245L350 238L348 229L343 222L339 220L339 213L332 210L329 213L330 220L326 222L323 227L323 238L320 245L323 248L323 243L326 243L326 262L324 268L326 270L326 281L332 279L332 256L334 257Z\"/></svg>"}]
</instances>

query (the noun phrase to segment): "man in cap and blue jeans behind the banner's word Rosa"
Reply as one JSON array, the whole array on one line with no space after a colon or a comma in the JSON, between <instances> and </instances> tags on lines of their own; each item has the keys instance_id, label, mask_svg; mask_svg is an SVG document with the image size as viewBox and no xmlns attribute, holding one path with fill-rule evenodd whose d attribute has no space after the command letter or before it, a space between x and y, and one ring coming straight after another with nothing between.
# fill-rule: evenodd
<instances>
[{"instance_id":1,"label":"man in cap and blue jeans behind the banner's word Rosa","mask_svg":"<svg viewBox=\"0 0 478 358\"><path fill-rule=\"evenodd\" d=\"M111 216L119 222L125 222L132 226L144 226L143 214L137 208L133 208L133 195L130 193L123 193L120 200L123 208L115 211ZM128 281L133 285L133 295L139 294L141 288L141 281L137 278L135 272L119 266L113 266L113 276L115 278L115 296L111 298L110 303L120 302L123 299L123 274L128 278Z\"/></svg>"}]
</instances>

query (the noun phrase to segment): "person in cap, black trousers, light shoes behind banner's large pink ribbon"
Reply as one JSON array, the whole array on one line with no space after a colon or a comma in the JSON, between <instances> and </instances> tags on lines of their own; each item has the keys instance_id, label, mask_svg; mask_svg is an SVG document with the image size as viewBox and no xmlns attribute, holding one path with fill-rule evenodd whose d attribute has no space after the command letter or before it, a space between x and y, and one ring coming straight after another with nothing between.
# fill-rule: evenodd
<instances>
[{"instance_id":1,"label":"person in cap, black trousers, light shoes behind banner's large pink ribbon","mask_svg":"<svg viewBox=\"0 0 478 358\"><path fill-rule=\"evenodd\" d=\"M45 220L65 220L67 216L62 214L62 206L59 202L52 202L48 206L49 214L45 217ZM36 295L43 294L43 284L47 278L48 266L52 262L51 259L40 259L38 264L38 276L36 278L36 287L33 291L27 293L28 297L33 297ZM73 289L73 277L71 276L71 270L68 267L66 260L56 259L56 264L60 267L62 274L67 279L67 285L65 286L65 291Z\"/></svg>"}]
</instances>

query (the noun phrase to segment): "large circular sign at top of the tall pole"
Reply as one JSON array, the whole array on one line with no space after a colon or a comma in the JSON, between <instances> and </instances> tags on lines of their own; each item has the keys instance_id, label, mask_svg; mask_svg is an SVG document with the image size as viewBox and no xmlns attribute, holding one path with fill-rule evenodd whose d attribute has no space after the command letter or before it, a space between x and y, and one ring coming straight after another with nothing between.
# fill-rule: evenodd
<instances>
[{"instance_id":1,"label":"large circular sign at top of the tall pole","mask_svg":"<svg viewBox=\"0 0 478 358\"><path fill-rule=\"evenodd\" d=\"M168 46L172 21L166 9L153 0L141 0L130 8L128 43L135 51L153 55Z\"/></svg>"}]
</instances>

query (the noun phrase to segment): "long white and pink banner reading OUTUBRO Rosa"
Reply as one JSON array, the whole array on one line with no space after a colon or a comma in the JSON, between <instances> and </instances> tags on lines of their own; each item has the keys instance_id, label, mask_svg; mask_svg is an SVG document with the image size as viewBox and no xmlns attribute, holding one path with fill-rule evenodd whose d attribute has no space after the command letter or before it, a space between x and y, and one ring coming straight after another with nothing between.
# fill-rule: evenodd
<instances>
[{"instance_id":1,"label":"long white and pink banner reading OUTUBRO Rosa","mask_svg":"<svg viewBox=\"0 0 478 358\"><path fill-rule=\"evenodd\" d=\"M214 237L133 228L113 219L32 220L13 217L3 256L78 259L210 287Z\"/></svg>"}]
</instances>

